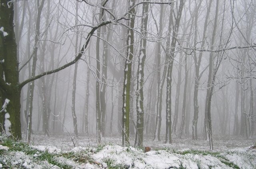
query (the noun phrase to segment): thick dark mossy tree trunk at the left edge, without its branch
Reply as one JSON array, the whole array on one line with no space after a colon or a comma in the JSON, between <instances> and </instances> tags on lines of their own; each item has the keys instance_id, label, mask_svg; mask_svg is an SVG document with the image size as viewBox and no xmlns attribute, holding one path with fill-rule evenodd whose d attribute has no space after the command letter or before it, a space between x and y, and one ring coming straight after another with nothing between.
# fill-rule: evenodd
<instances>
[{"instance_id":1,"label":"thick dark mossy tree trunk at the left edge, without its branch","mask_svg":"<svg viewBox=\"0 0 256 169\"><path fill-rule=\"evenodd\" d=\"M15 139L22 139L20 124L20 92L17 60L17 45L14 33L14 6L9 0L1 0L0 4L0 90L2 102L9 99L6 112L10 114L10 133Z\"/></svg>"}]
</instances>

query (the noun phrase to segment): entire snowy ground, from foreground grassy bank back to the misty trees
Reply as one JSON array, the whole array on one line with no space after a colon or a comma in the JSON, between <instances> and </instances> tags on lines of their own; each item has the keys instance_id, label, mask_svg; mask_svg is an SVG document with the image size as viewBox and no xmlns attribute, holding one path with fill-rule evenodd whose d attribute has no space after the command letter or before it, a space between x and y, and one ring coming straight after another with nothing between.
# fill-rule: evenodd
<instances>
[{"instance_id":1,"label":"entire snowy ground, from foreground grassy bank back to the misty trees","mask_svg":"<svg viewBox=\"0 0 256 169\"><path fill-rule=\"evenodd\" d=\"M163 138L164 140L164 138ZM131 140L133 143L134 140ZM0 168L22 169L256 169L255 139L220 137L209 151L203 139L144 140L144 146L122 147L120 136L78 138L65 135L32 135L30 145L0 136Z\"/></svg>"}]
</instances>

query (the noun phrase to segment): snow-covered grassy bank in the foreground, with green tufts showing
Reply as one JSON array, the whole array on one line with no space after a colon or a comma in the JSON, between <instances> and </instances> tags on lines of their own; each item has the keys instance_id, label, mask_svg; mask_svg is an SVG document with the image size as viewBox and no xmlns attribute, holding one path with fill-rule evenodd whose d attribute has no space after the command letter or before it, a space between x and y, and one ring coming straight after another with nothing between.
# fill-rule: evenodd
<instances>
[{"instance_id":1,"label":"snow-covered grassy bank in the foreground, with green tufts showing","mask_svg":"<svg viewBox=\"0 0 256 169\"><path fill-rule=\"evenodd\" d=\"M256 169L256 149L250 147L206 151L116 144L76 146L28 145L0 137L0 168L72 169Z\"/></svg>"}]
</instances>

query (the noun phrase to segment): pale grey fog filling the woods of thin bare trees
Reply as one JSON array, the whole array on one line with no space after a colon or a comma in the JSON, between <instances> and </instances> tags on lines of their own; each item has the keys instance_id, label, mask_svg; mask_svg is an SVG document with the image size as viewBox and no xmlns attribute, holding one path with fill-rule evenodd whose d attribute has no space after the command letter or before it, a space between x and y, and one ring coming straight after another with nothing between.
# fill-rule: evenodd
<instances>
[{"instance_id":1,"label":"pale grey fog filling the woods of thin bare trees","mask_svg":"<svg viewBox=\"0 0 256 169\"><path fill-rule=\"evenodd\" d=\"M14 2L23 139L255 138L255 4Z\"/></svg>"}]
</instances>

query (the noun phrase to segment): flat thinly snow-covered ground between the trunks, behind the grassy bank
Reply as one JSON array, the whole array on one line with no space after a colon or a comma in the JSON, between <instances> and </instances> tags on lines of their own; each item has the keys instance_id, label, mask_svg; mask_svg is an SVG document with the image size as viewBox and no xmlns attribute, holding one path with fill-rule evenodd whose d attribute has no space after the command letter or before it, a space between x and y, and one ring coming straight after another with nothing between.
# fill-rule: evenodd
<instances>
[{"instance_id":1,"label":"flat thinly snow-covered ground between the trunks, behind the grassy bank","mask_svg":"<svg viewBox=\"0 0 256 169\"><path fill-rule=\"evenodd\" d=\"M44 136L44 134L37 133L32 135L32 143L34 145L50 145L58 147L62 150L71 150L74 148L74 143L76 146L88 147L88 146L97 146L96 136L79 136L78 139L74 138L74 135L71 137L66 135L51 135L51 137ZM203 139L192 140L191 138L173 138L172 144L165 144L164 137L162 137L162 141L153 141L153 138L144 138L143 145L152 147L152 149L161 149L161 148L171 148L171 149L196 149L196 150L209 150L209 141L204 141ZM240 147L248 147L253 145L256 142L256 139L242 139L240 137L220 137L218 139L214 139L214 150L223 151ZM114 144L114 145L122 145L122 136L112 136L112 137L103 137L102 143L106 144ZM130 137L131 145L134 144L134 137Z\"/></svg>"}]
</instances>

